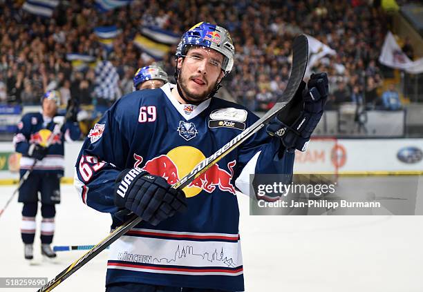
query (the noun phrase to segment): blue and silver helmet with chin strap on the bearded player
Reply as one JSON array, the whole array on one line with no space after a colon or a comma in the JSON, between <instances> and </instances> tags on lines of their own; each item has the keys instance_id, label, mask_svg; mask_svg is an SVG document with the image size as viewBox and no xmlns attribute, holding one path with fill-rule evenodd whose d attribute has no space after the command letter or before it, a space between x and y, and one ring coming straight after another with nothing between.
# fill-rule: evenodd
<instances>
[{"instance_id":1,"label":"blue and silver helmet with chin strap on the bearded player","mask_svg":"<svg viewBox=\"0 0 423 292\"><path fill-rule=\"evenodd\" d=\"M232 67L234 66L235 47L229 32L225 28L207 22L197 23L185 32L184 35L182 35L180 43L176 48L176 59L180 57L184 58L187 55L189 48L192 48L193 46L210 48L212 50L216 50L216 52L220 52L220 54L223 55L223 63L221 64L223 77L231 72ZM178 81L179 74L180 70L176 67L176 81ZM216 84L212 93L209 94L209 97L212 97L218 88L220 88L220 82ZM178 91L180 92L179 85ZM184 98L183 96L181 97Z\"/></svg>"}]
</instances>

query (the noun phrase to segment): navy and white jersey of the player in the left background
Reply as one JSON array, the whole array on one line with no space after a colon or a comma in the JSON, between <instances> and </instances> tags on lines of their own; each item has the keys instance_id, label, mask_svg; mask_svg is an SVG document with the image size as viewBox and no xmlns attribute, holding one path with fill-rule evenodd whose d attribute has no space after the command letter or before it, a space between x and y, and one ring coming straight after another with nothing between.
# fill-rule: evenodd
<instances>
[{"instance_id":1,"label":"navy and white jersey of the player in the left background","mask_svg":"<svg viewBox=\"0 0 423 292\"><path fill-rule=\"evenodd\" d=\"M28 148L30 144L45 144L50 135L50 146L46 157L35 164L33 173L64 173L64 142L73 142L81 136L81 130L77 123L66 121L61 129L55 129L57 126L53 119L44 117L41 113L27 113L23 115L17 125L17 131L13 137L13 144L17 152L22 153L20 165L21 175L25 173L34 164L34 159L28 157Z\"/></svg>"}]
</instances>

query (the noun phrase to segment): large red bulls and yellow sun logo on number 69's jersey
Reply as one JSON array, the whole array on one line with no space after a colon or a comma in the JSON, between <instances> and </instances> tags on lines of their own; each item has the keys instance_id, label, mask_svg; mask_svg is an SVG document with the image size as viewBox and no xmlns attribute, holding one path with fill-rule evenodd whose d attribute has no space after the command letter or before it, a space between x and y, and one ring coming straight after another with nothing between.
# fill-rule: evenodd
<instances>
[{"instance_id":1,"label":"large red bulls and yellow sun logo on number 69's jersey","mask_svg":"<svg viewBox=\"0 0 423 292\"><path fill-rule=\"evenodd\" d=\"M142 157L134 153L134 167L140 167ZM188 158L189 157L189 158ZM180 146L169 151L166 155L160 155L147 161L142 169L152 175L164 177L169 184L176 184L180 178L187 175L199 162L205 159L205 155L197 148ZM194 179L183 191L187 197L194 197L200 191L212 193L216 187L220 191L236 194L232 184L235 160L227 164L229 171L220 168L218 164L210 167L205 173Z\"/></svg>"}]
</instances>

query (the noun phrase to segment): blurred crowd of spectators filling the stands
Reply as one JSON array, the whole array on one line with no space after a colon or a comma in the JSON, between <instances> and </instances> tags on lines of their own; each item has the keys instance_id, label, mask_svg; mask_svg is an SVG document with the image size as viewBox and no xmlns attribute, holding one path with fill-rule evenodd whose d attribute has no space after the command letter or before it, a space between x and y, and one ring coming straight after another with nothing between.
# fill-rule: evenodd
<instances>
[{"instance_id":1,"label":"blurred crowd of spectators filling the stands","mask_svg":"<svg viewBox=\"0 0 423 292\"><path fill-rule=\"evenodd\" d=\"M328 108L341 102L376 104L382 74L377 65L386 19L368 1L140 0L111 12L98 12L93 1L61 1L53 17L42 19L21 10L23 1L0 0L0 102L37 104L46 89L62 93L62 104L98 100L93 68L75 70L67 53L109 59L120 75L122 93L132 90L137 68L153 61L134 45L141 26L156 25L177 35L199 21L224 26L236 46L229 93L252 110L270 108L283 92L290 72L294 35L304 32L326 43L336 55L322 58L314 71L328 72ZM122 33L106 50L94 28L115 25ZM174 50L163 66L174 72ZM3 88L3 89L2 89Z\"/></svg>"}]
</instances>

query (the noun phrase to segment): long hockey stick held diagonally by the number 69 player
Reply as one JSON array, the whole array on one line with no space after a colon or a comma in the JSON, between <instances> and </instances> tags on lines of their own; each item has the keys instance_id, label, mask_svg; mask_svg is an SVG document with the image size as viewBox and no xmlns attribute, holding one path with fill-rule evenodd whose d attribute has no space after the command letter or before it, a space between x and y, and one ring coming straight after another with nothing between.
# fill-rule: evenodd
<instances>
[{"instance_id":1,"label":"long hockey stick held diagonally by the number 69 player","mask_svg":"<svg viewBox=\"0 0 423 292\"><path fill-rule=\"evenodd\" d=\"M278 99L276 104L267 112L261 119L256 121L252 126L243 130L241 134L234 137L231 141L229 141L225 146L220 148L210 157L207 157L202 162L200 162L188 175L182 177L179 182L173 184L173 188L185 188L189 183L191 183L194 179L205 173L211 166L216 164L220 159L225 157L229 152L234 150L237 146L239 146L242 142L246 139L254 135L258 130L263 128L283 107L285 107L288 102L294 97L301 81L304 77L304 72L306 72L306 66L308 61L308 41L305 35L299 35L294 39L294 43L292 45L293 57L292 57L292 70L290 79L288 80L288 84L286 86L285 91L283 92L282 96ZM104 240L102 240L99 244L93 247L90 251L79 257L78 260L73 262L70 266L68 266L64 271L59 273L53 280L50 280L46 285L42 286L38 292L43 291L51 291L53 290L58 284L66 280L70 275L75 273L79 268L84 266L87 262L89 262L93 257L99 254L101 251L106 249L107 246L118 240L119 237L124 235L126 231L133 228L133 226L140 223L142 220L140 217L134 215L131 220L125 222L123 225L119 226L115 229L112 233L110 233Z\"/></svg>"}]
</instances>

